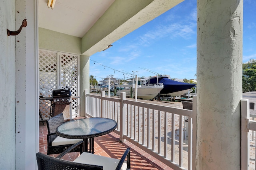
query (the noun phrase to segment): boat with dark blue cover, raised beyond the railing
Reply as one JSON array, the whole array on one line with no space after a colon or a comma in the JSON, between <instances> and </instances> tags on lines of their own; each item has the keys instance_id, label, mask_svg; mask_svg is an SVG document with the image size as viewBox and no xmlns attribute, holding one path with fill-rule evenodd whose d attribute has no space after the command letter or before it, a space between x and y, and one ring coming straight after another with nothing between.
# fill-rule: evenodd
<instances>
[{"instance_id":1,"label":"boat with dark blue cover, raised beyond the railing","mask_svg":"<svg viewBox=\"0 0 256 170\"><path fill-rule=\"evenodd\" d=\"M180 96L182 94L188 93L192 87L196 84L178 82L175 80L169 79L167 76L153 77L146 82L146 84L164 84L164 88L160 91L160 96Z\"/></svg>"}]
</instances>

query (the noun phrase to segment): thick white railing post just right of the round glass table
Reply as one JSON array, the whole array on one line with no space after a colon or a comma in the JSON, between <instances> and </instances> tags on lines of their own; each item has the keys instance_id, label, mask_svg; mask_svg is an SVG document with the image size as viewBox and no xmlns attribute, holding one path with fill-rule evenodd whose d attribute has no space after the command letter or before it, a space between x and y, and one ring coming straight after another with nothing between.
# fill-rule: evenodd
<instances>
[{"instance_id":1,"label":"thick white railing post just right of the round glass table","mask_svg":"<svg viewBox=\"0 0 256 170\"><path fill-rule=\"evenodd\" d=\"M125 132L125 92L120 93L120 142L124 142L124 132Z\"/></svg>"}]
</instances>

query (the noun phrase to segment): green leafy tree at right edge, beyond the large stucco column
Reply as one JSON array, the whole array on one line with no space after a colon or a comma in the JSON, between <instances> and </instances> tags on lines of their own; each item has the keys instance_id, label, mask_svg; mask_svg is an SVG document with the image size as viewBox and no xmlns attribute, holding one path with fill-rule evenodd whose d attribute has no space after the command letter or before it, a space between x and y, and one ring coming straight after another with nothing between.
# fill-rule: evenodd
<instances>
[{"instance_id":1,"label":"green leafy tree at right edge, beyond the large stucco column","mask_svg":"<svg viewBox=\"0 0 256 170\"><path fill-rule=\"evenodd\" d=\"M243 64L243 92L256 91L256 60L250 59Z\"/></svg>"}]
</instances>

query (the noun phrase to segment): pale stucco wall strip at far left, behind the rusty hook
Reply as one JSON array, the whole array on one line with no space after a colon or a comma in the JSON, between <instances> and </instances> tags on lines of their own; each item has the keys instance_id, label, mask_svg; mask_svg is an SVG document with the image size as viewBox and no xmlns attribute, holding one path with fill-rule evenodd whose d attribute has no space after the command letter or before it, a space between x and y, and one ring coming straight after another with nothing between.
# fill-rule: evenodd
<instances>
[{"instance_id":1,"label":"pale stucco wall strip at far left, behind the rusty hook","mask_svg":"<svg viewBox=\"0 0 256 170\"><path fill-rule=\"evenodd\" d=\"M15 0L0 1L0 169L15 169Z\"/></svg>"}]
</instances>

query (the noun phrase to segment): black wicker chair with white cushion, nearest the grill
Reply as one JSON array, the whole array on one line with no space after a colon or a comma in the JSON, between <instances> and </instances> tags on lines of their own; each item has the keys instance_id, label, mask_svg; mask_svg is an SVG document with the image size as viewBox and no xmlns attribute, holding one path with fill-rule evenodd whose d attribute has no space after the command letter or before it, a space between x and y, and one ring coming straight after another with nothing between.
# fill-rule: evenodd
<instances>
[{"instance_id":1,"label":"black wicker chair with white cushion, nearest the grill","mask_svg":"<svg viewBox=\"0 0 256 170\"><path fill-rule=\"evenodd\" d=\"M62 123L64 123L64 118L63 118L62 113L60 113L60 114L58 114L58 115L56 115L56 116L54 116L51 119L46 121L47 129L48 129L47 154L59 154L59 153L68 149L69 147L71 147L72 145L74 145L75 143L77 143L79 141L79 139L78 140L77 139L74 139L74 140L73 139L64 139L64 138L58 137L58 135L56 135L56 128L59 125L61 125ZM52 145L52 142L56 138L58 139L58 141L60 143L62 143L61 145ZM62 139L63 139L64 142L61 142ZM74 149L70 150L70 152L80 152L80 153L82 153L83 152L83 144L78 145Z\"/></svg>"}]
</instances>

